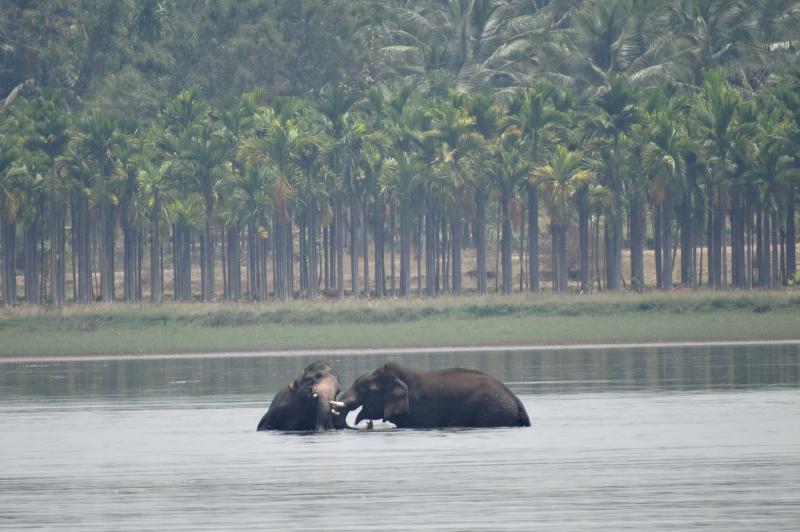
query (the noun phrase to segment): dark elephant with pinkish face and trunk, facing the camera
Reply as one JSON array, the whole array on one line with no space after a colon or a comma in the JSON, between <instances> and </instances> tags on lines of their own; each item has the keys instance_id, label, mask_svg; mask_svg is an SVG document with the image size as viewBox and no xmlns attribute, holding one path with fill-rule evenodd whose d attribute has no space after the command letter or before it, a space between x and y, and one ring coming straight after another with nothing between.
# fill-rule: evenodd
<instances>
[{"instance_id":1,"label":"dark elephant with pinkish face and trunk, facing the camera","mask_svg":"<svg viewBox=\"0 0 800 532\"><path fill-rule=\"evenodd\" d=\"M347 428L344 416L329 405L340 392L339 374L325 362L314 362L272 399L257 430L323 431Z\"/></svg>"}]
</instances>

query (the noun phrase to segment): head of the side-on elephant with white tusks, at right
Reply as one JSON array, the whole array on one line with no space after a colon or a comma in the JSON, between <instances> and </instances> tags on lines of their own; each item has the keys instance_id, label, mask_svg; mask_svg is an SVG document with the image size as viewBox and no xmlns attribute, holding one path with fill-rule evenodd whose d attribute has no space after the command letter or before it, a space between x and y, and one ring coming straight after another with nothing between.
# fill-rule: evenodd
<instances>
[{"instance_id":1,"label":"head of the side-on elephant with white tusks, at right","mask_svg":"<svg viewBox=\"0 0 800 532\"><path fill-rule=\"evenodd\" d=\"M408 414L409 392L403 368L388 363L360 376L338 401L331 401L333 411L347 413L361 406L356 424L362 419L383 419Z\"/></svg>"}]
</instances>

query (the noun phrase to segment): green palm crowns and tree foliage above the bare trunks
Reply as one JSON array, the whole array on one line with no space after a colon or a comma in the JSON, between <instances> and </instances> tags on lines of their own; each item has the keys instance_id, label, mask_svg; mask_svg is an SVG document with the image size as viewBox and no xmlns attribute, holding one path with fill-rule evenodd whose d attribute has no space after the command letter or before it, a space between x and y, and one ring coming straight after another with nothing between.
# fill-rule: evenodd
<instances>
[{"instance_id":1,"label":"green palm crowns and tree foliage above the bare trunks","mask_svg":"<svg viewBox=\"0 0 800 532\"><path fill-rule=\"evenodd\" d=\"M536 186L565 235L578 205L588 230L590 207L607 262L648 209L668 226L681 214L687 233L713 217L718 259L737 209L751 232L754 216L768 219L767 246L794 231L797 2L14 0L2 14L3 219L52 230L44 206L70 204L61 214L106 222L107 262L117 225L140 239L169 232L163 221L204 226L211 241L249 224L266 243L279 223L291 268L293 224L306 261L335 209L339 231L372 214L383 223L388 207L401 211L406 246L439 224L426 238L443 253L453 231L456 247L481 240L472 233L487 232L487 206L514 230L528 209L538 228ZM515 235L503 230L510 255ZM81 252L93 254L82 231ZM43 229L28 237L29 251L36 239L53 249ZM688 240L687 252L699 242ZM599 230L593 245L603 253ZM267 253L250 257L264 279ZM784 269L786 280L794 265ZM47 275L41 264L25 273Z\"/></svg>"}]
</instances>

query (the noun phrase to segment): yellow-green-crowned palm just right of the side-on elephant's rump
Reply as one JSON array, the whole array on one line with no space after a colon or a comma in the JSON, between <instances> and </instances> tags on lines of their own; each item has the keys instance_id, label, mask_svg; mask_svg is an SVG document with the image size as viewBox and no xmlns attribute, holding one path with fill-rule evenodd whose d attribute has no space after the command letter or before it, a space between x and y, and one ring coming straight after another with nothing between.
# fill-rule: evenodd
<instances>
[{"instance_id":1,"label":"yellow-green-crowned palm just right of the side-on elephant's rump","mask_svg":"<svg viewBox=\"0 0 800 532\"><path fill-rule=\"evenodd\" d=\"M542 189L542 199L550 217L553 286L558 292L566 292L569 280L566 235L570 213L580 191L588 187L593 177L580 153L562 145L556 146L549 164L534 170L534 179Z\"/></svg>"}]
</instances>

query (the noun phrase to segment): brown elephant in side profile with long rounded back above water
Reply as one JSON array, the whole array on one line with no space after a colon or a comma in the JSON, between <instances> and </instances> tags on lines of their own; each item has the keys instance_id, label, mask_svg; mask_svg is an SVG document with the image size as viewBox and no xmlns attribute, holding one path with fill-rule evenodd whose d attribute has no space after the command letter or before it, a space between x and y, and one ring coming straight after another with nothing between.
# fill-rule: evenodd
<instances>
[{"instance_id":1,"label":"brown elephant in side profile with long rounded back above water","mask_svg":"<svg viewBox=\"0 0 800 532\"><path fill-rule=\"evenodd\" d=\"M362 419L398 428L529 427L528 413L511 390L480 371L416 371L389 362L360 376L330 405L345 415L361 406Z\"/></svg>"}]
</instances>

